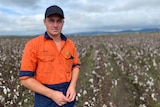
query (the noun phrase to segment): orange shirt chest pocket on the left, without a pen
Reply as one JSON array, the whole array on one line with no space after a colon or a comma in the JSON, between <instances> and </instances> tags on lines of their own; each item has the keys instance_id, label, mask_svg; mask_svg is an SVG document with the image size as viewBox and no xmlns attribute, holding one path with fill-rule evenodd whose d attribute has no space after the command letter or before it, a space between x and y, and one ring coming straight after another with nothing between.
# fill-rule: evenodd
<instances>
[{"instance_id":1,"label":"orange shirt chest pocket on the left, without a pen","mask_svg":"<svg viewBox=\"0 0 160 107\"><path fill-rule=\"evenodd\" d=\"M38 57L37 71L41 73L52 72L53 61L54 61L54 55L40 55Z\"/></svg>"}]
</instances>

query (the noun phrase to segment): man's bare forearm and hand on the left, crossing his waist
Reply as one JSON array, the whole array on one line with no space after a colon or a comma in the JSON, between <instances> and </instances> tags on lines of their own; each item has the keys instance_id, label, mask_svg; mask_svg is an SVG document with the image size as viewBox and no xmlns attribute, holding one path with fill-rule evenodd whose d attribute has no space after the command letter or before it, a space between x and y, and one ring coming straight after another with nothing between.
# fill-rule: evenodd
<instances>
[{"instance_id":1,"label":"man's bare forearm and hand on the left, crossing his waist","mask_svg":"<svg viewBox=\"0 0 160 107\"><path fill-rule=\"evenodd\" d=\"M60 91L52 90L44 85L42 85L40 82L38 82L34 78L27 78L21 80L21 83L27 87L28 89L37 92L39 94L42 94L46 97L51 98L53 101L55 101L58 105L62 106L69 102L69 99L67 99L66 96Z\"/></svg>"}]
</instances>

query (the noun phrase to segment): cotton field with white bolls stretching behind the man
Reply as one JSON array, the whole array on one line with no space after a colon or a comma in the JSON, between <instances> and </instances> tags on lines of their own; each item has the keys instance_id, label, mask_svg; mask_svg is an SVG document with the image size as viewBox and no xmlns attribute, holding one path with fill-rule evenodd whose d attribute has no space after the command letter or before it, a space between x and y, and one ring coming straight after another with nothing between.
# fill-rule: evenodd
<instances>
[{"instance_id":1,"label":"cotton field with white bolls stretching behind the man","mask_svg":"<svg viewBox=\"0 0 160 107\"><path fill-rule=\"evenodd\" d=\"M0 107L33 107L18 80L32 37L0 37ZM160 107L160 33L69 36L81 60L76 107Z\"/></svg>"}]
</instances>

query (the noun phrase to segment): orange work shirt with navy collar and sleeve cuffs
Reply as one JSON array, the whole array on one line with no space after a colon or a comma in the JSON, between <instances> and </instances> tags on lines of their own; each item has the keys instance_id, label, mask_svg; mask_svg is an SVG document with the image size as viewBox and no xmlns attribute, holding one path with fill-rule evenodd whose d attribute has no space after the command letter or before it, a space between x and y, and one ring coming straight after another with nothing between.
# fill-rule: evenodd
<instances>
[{"instance_id":1,"label":"orange work shirt with navy collar and sleeve cuffs","mask_svg":"<svg viewBox=\"0 0 160 107\"><path fill-rule=\"evenodd\" d=\"M58 50L47 32L25 45L20 79L35 77L42 84L70 82L74 67L80 68L75 44L61 34L61 50Z\"/></svg>"}]
</instances>

